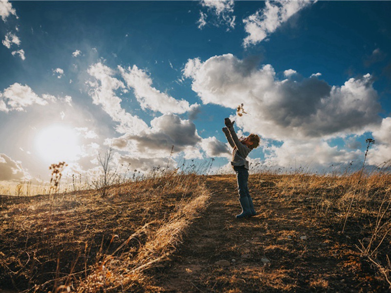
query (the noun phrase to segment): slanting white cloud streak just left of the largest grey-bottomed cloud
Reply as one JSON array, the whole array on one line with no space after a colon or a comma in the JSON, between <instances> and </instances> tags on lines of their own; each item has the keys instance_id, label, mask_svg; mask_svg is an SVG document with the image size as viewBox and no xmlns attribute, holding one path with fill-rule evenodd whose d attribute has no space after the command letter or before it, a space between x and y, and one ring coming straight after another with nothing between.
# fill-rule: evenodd
<instances>
[{"instance_id":1,"label":"slanting white cloud streak just left of the largest grey-bottomed cloud","mask_svg":"<svg viewBox=\"0 0 391 293\"><path fill-rule=\"evenodd\" d=\"M118 66L122 77L129 88L133 88L134 95L143 109L151 109L160 113L182 114L189 111L189 102L176 100L152 87L152 79L136 65L124 69Z\"/></svg>"}]
</instances>

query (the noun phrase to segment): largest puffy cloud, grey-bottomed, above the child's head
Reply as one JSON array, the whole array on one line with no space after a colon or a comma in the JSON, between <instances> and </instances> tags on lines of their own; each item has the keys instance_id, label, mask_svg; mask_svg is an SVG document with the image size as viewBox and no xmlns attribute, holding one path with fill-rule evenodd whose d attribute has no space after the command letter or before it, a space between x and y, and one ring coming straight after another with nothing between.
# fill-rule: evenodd
<instances>
[{"instance_id":1,"label":"largest puffy cloud, grey-bottomed, above the child's head","mask_svg":"<svg viewBox=\"0 0 391 293\"><path fill-rule=\"evenodd\" d=\"M189 60L183 70L204 104L232 109L243 103L249 112L237 119L244 131L266 138L311 138L362 133L380 122L381 106L369 74L344 85L329 85L316 76L278 80L274 68L258 68L232 54L204 63Z\"/></svg>"}]
</instances>

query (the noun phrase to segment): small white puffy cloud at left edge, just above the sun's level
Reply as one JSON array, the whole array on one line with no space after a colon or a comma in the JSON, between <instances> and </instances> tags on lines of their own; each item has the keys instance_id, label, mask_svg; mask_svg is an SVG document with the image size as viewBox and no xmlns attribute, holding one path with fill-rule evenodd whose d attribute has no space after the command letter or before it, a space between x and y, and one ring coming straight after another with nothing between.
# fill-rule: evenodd
<instances>
[{"instance_id":1,"label":"small white puffy cloud at left edge, just above the sun's level","mask_svg":"<svg viewBox=\"0 0 391 293\"><path fill-rule=\"evenodd\" d=\"M15 83L0 92L0 111L24 111L25 107L33 104L47 105L47 101L53 98L50 95L41 98L28 85Z\"/></svg>"}]
</instances>

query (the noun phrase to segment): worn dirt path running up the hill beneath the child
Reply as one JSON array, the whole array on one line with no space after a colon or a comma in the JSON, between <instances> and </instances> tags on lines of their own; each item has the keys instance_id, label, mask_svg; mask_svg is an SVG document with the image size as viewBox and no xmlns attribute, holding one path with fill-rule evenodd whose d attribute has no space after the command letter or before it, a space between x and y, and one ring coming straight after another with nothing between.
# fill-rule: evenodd
<instances>
[{"instance_id":1,"label":"worn dirt path running up the hill beneath the child","mask_svg":"<svg viewBox=\"0 0 391 293\"><path fill-rule=\"evenodd\" d=\"M259 214L238 220L235 177L213 176L207 184L209 207L195 220L170 265L154 276L162 291L380 290L352 240L315 219L302 200L274 194L266 181L261 190L250 186Z\"/></svg>"}]
</instances>

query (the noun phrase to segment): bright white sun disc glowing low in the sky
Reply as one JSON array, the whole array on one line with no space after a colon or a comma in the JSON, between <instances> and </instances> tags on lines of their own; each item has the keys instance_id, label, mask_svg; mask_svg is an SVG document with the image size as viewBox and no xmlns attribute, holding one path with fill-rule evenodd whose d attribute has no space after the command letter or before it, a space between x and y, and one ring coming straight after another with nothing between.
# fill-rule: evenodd
<instances>
[{"instance_id":1,"label":"bright white sun disc glowing low in the sky","mask_svg":"<svg viewBox=\"0 0 391 293\"><path fill-rule=\"evenodd\" d=\"M81 152L76 131L62 125L43 128L35 138L35 148L48 164L75 161Z\"/></svg>"}]
</instances>

